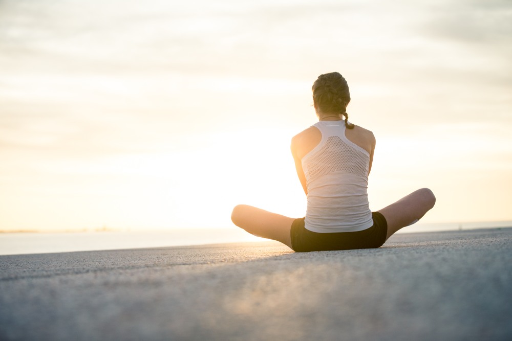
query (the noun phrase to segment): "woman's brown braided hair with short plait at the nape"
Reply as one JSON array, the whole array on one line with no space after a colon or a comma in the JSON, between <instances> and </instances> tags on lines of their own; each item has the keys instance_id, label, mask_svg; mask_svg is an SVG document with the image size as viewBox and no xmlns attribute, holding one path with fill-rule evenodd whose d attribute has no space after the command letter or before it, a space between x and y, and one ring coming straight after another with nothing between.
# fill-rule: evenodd
<instances>
[{"instance_id":1,"label":"woman's brown braided hair with short plait at the nape","mask_svg":"<svg viewBox=\"0 0 512 341\"><path fill-rule=\"evenodd\" d=\"M349 85L345 78L337 72L318 76L313 83L313 105L323 112L336 112L345 116L345 126L353 129L349 123L347 105L350 102Z\"/></svg>"}]
</instances>

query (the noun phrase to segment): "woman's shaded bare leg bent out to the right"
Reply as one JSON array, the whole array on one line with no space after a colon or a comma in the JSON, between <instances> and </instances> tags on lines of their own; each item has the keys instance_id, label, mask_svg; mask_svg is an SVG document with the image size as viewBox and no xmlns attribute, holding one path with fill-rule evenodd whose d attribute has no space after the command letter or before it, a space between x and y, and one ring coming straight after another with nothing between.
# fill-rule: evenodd
<instances>
[{"instance_id":1,"label":"woman's shaded bare leg bent out to the right","mask_svg":"<svg viewBox=\"0 0 512 341\"><path fill-rule=\"evenodd\" d=\"M428 188L412 192L380 212L388 222L388 235L386 240L401 228L418 221L426 212L434 207L436 197Z\"/></svg>"}]
</instances>

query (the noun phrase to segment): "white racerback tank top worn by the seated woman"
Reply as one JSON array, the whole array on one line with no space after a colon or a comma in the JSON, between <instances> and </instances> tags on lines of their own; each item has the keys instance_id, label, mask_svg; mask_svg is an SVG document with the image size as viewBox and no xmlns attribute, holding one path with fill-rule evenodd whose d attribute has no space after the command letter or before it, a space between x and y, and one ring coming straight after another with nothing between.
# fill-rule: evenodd
<instances>
[{"instance_id":1,"label":"white racerback tank top worn by the seated woman","mask_svg":"<svg viewBox=\"0 0 512 341\"><path fill-rule=\"evenodd\" d=\"M347 139L345 121L319 121L313 127L322 140L302 158L308 189L306 229L332 233L370 228L370 154Z\"/></svg>"}]
</instances>

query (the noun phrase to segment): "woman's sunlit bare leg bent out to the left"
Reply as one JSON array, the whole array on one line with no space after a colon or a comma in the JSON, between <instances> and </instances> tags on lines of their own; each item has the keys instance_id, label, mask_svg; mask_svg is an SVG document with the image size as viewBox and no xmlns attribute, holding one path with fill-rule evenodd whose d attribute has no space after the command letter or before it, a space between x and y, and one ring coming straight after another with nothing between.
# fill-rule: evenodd
<instances>
[{"instance_id":1,"label":"woman's sunlit bare leg bent out to the left","mask_svg":"<svg viewBox=\"0 0 512 341\"><path fill-rule=\"evenodd\" d=\"M233 223L258 237L282 242L291 248L290 229L295 218L289 218L247 205L234 207Z\"/></svg>"}]
</instances>

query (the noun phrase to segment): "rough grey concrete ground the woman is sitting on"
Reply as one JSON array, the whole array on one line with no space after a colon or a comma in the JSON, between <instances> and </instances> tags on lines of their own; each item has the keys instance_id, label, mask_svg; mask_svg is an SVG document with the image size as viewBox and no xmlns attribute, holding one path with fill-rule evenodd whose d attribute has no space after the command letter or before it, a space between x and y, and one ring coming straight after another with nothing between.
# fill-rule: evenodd
<instances>
[{"instance_id":1,"label":"rough grey concrete ground the woman is sitting on","mask_svg":"<svg viewBox=\"0 0 512 341\"><path fill-rule=\"evenodd\" d=\"M512 229L0 256L2 340L510 340Z\"/></svg>"}]
</instances>

